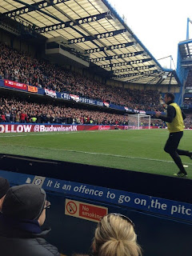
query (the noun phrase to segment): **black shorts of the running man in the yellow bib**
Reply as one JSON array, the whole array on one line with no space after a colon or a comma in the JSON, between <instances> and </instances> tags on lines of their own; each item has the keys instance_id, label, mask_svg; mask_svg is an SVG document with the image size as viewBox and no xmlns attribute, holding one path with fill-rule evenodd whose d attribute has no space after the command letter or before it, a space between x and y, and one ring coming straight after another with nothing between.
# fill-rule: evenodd
<instances>
[{"instance_id":1,"label":"black shorts of the running man in the yellow bib","mask_svg":"<svg viewBox=\"0 0 192 256\"><path fill-rule=\"evenodd\" d=\"M179 131L177 133L170 133L169 138L166 141L166 146L164 150L167 153L172 153L178 149L178 144L182 138L183 131Z\"/></svg>"}]
</instances>

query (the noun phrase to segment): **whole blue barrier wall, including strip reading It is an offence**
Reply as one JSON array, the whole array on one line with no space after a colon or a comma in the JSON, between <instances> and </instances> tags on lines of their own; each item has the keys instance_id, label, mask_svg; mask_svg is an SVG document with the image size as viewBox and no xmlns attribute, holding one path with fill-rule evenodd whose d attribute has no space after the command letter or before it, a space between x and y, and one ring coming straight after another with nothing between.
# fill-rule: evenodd
<instances>
[{"instance_id":1,"label":"whole blue barrier wall, including strip reading It is an offence","mask_svg":"<svg viewBox=\"0 0 192 256\"><path fill-rule=\"evenodd\" d=\"M88 253L97 225L92 219L84 219L80 215L74 217L74 213L66 214L66 201L75 200L99 208L106 207L109 213L118 212L129 216L135 223L144 256L191 256L192 205L189 203L32 174L0 170L0 176L8 178L11 185L27 182L38 184L46 190L51 202L50 210L46 211L46 225L52 227L48 240L58 246L62 254ZM89 194L90 190L102 193L93 195ZM124 202L119 201L120 195L126 195ZM135 201L135 198L140 201ZM146 203L142 199L146 199ZM171 210L174 213L171 214Z\"/></svg>"}]
</instances>

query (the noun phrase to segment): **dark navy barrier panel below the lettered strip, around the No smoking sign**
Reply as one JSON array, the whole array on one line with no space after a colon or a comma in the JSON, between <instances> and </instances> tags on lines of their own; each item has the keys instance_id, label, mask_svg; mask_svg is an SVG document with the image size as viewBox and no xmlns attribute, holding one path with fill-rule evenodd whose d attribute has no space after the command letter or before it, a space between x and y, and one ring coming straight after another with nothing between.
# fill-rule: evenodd
<instances>
[{"instance_id":1,"label":"dark navy barrier panel below the lettered strip, around the No smoking sign","mask_svg":"<svg viewBox=\"0 0 192 256\"><path fill-rule=\"evenodd\" d=\"M138 243L142 246L144 256L191 256L191 223L155 216L127 207L98 204L82 198L55 196L54 194L48 194L48 198L51 203L54 202L50 212L47 213L47 218L49 221L51 220L52 226L49 239L50 242L58 246L63 254L88 253L94 237L94 229L97 226L95 222L64 214L65 199L71 198L98 206L106 206L109 212L118 212L129 216L135 223L135 232L138 235ZM58 230L60 231L58 232Z\"/></svg>"}]
</instances>

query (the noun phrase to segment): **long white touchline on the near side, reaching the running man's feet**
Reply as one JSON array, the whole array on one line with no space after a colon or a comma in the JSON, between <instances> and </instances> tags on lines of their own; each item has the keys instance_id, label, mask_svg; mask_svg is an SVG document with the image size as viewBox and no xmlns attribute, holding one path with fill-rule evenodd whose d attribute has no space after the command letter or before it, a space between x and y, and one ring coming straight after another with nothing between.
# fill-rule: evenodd
<instances>
[{"instance_id":1,"label":"long white touchline on the near side, reaching the running man's feet","mask_svg":"<svg viewBox=\"0 0 192 256\"><path fill-rule=\"evenodd\" d=\"M6 146L6 145L2 145ZM17 145L14 145L17 146ZM44 147L35 147L35 146L22 146L26 148L33 148L39 150L56 150L56 151L64 151L64 152L74 152L74 153L82 153L82 154L95 154L95 155L104 155L108 157L115 157L115 158L130 158L130 159L139 159L139 160L148 160L148 161L155 161L155 162L168 162L174 163L173 161L161 160L161 159L153 159L153 158L137 158L137 157L130 157L121 154L106 154L106 153L96 153L96 152L87 152L87 151L78 151L78 150L62 150L62 149L54 149L54 148L44 148ZM187 165L192 166L191 163L187 163Z\"/></svg>"}]
</instances>

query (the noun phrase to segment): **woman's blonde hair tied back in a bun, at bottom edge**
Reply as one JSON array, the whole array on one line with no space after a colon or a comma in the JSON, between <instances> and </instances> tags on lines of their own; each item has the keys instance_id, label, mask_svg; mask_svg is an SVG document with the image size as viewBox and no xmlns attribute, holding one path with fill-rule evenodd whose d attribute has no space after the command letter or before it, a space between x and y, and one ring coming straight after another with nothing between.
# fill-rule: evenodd
<instances>
[{"instance_id":1,"label":"woman's blonde hair tied back in a bun, at bottom edge","mask_svg":"<svg viewBox=\"0 0 192 256\"><path fill-rule=\"evenodd\" d=\"M92 244L94 256L139 256L134 222L122 214L107 214L98 223Z\"/></svg>"}]
</instances>

